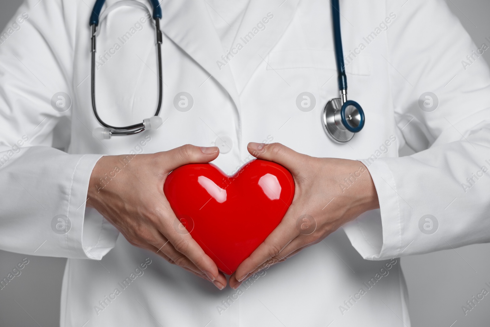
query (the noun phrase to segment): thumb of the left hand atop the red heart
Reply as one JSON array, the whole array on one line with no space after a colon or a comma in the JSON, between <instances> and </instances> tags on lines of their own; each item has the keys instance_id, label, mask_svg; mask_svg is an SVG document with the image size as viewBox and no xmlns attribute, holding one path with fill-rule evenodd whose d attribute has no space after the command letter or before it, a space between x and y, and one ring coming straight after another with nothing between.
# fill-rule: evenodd
<instances>
[{"instance_id":1,"label":"thumb of the left hand atop the red heart","mask_svg":"<svg viewBox=\"0 0 490 327\"><path fill-rule=\"evenodd\" d=\"M186 144L165 152L167 168L174 170L189 163L207 163L220 154L218 147L196 147Z\"/></svg>"}]
</instances>

